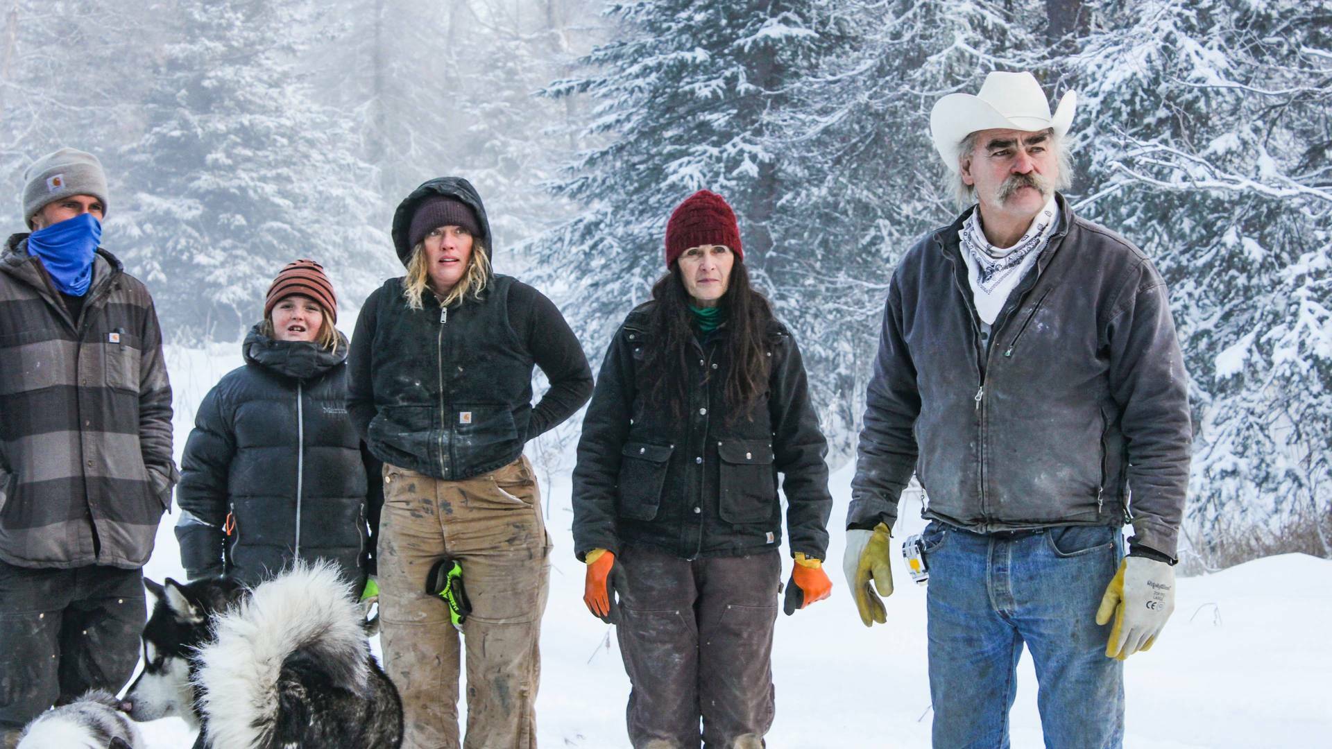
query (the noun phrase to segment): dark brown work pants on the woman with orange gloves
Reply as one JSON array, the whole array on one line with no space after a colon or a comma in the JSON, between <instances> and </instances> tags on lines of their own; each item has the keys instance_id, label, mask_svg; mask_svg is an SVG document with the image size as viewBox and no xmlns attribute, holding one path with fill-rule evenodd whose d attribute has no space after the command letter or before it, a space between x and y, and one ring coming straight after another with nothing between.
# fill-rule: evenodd
<instances>
[{"instance_id":1,"label":"dark brown work pants on the woman with orange gloves","mask_svg":"<svg viewBox=\"0 0 1332 749\"><path fill-rule=\"evenodd\" d=\"M777 552L690 561L629 545L615 564L625 572L615 634L633 685L630 744L763 746L775 710Z\"/></svg>"}]
</instances>

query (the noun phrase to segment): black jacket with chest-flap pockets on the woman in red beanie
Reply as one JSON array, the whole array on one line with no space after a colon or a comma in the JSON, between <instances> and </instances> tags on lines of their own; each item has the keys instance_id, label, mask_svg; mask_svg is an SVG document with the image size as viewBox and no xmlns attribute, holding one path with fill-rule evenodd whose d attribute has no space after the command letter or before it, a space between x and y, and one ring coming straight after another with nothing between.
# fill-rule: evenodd
<instances>
[{"instance_id":1,"label":"black jacket with chest-flap pockets on the woman in red beanie","mask_svg":"<svg viewBox=\"0 0 1332 749\"><path fill-rule=\"evenodd\" d=\"M674 418L643 396L653 304L637 308L615 332L583 420L573 493L578 558L597 548L618 554L626 541L683 558L775 549L779 472L791 553L825 558L832 510L827 441L795 340L774 321L769 392L753 420L727 420L726 325L706 345L695 341L689 414Z\"/></svg>"}]
</instances>

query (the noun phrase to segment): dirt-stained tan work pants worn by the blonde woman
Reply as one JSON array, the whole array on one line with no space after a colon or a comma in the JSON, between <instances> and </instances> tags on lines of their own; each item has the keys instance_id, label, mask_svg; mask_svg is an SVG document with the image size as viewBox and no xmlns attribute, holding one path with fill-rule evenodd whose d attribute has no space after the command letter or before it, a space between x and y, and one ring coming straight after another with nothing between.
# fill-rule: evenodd
<instances>
[{"instance_id":1,"label":"dirt-stained tan work pants worn by the blonde woman","mask_svg":"<svg viewBox=\"0 0 1332 749\"><path fill-rule=\"evenodd\" d=\"M402 694L405 749L529 749L537 745L541 614L550 537L527 458L464 481L384 466L380 621L385 672ZM426 594L442 556L462 562L472 600L468 733L458 737L462 653L449 608Z\"/></svg>"}]
</instances>

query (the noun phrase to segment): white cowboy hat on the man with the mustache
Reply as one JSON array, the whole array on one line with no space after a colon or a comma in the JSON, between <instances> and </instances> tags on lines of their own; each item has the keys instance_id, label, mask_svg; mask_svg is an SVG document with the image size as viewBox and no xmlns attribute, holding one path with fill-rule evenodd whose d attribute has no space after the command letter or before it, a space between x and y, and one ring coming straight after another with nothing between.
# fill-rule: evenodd
<instances>
[{"instance_id":1,"label":"white cowboy hat on the man with the mustache","mask_svg":"<svg viewBox=\"0 0 1332 749\"><path fill-rule=\"evenodd\" d=\"M1050 103L1036 76L995 71L986 76L980 93L950 93L934 104L930 137L943 163L956 172L958 145L968 135L988 129L1035 132L1054 128L1055 136L1063 137L1076 108L1078 93L1070 91L1059 100L1059 108L1051 117Z\"/></svg>"}]
</instances>

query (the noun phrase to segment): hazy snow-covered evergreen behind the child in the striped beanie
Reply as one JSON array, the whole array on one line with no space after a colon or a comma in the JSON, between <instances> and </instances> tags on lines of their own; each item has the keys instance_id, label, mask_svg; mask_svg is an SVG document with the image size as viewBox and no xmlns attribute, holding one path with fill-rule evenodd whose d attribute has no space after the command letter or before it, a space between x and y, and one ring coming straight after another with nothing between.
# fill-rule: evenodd
<instances>
[{"instance_id":1,"label":"hazy snow-covered evergreen behind the child in the striped beanie","mask_svg":"<svg viewBox=\"0 0 1332 749\"><path fill-rule=\"evenodd\" d=\"M139 193L127 257L147 269L165 327L237 339L297 257L322 263L342 299L364 299L396 260L384 227L369 223L372 169L294 69L308 7L173 8L181 41L165 48L148 129L128 148Z\"/></svg>"}]
</instances>

